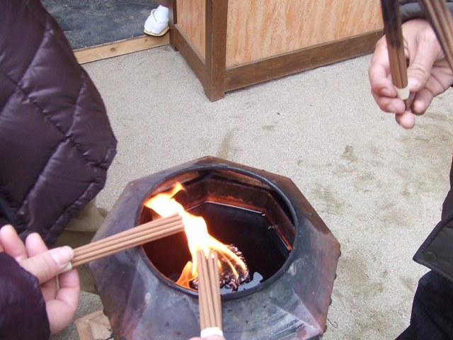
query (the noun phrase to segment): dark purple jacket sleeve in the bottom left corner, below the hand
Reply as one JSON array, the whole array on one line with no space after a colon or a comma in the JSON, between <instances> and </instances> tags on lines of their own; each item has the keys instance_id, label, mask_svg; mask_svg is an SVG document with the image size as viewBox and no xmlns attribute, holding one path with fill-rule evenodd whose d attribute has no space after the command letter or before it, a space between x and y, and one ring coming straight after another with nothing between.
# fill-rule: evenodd
<instances>
[{"instance_id":1,"label":"dark purple jacket sleeve in the bottom left corner, below the hand","mask_svg":"<svg viewBox=\"0 0 453 340\"><path fill-rule=\"evenodd\" d=\"M0 253L0 339L47 340L49 320L38 279Z\"/></svg>"}]
</instances>

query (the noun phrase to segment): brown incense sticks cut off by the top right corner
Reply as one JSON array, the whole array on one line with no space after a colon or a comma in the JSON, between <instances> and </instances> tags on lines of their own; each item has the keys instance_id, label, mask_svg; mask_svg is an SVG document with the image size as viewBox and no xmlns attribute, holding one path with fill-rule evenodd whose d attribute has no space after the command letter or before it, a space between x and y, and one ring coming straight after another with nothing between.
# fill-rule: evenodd
<instances>
[{"instance_id":1,"label":"brown incense sticks cut off by the top right corner","mask_svg":"<svg viewBox=\"0 0 453 340\"><path fill-rule=\"evenodd\" d=\"M447 3L443 0L418 0L437 35L449 67L453 69L453 19Z\"/></svg>"}]
</instances>

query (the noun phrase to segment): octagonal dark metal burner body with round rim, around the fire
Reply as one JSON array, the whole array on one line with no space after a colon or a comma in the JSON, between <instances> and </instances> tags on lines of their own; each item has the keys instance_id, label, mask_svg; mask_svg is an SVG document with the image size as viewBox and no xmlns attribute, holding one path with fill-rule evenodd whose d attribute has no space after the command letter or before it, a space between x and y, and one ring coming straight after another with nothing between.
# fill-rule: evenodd
<instances>
[{"instance_id":1,"label":"octagonal dark metal burner body with round rim, around the fire","mask_svg":"<svg viewBox=\"0 0 453 340\"><path fill-rule=\"evenodd\" d=\"M282 244L291 249L272 277L250 290L222 295L226 340L321 339L340 244L286 177L214 157L197 159L130 182L93 241L139 224L144 200L176 180L193 183L213 178L242 189L231 197L216 182L207 186L211 198L225 197L244 206L262 204ZM256 193L263 197L258 203ZM162 275L142 247L93 261L88 267L115 339L187 340L200 334L196 292Z\"/></svg>"}]
</instances>

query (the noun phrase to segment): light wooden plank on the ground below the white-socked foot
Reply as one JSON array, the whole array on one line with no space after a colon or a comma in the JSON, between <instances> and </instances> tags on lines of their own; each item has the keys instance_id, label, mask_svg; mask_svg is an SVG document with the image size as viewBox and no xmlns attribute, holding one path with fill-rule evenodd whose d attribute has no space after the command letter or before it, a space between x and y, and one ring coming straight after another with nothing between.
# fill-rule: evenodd
<instances>
[{"instance_id":1,"label":"light wooden plank on the ground below the white-socked foot","mask_svg":"<svg viewBox=\"0 0 453 340\"><path fill-rule=\"evenodd\" d=\"M86 62L94 62L118 55L126 55L127 53L148 50L149 48L168 45L170 43L170 35L166 34L162 37L153 37L151 35L140 35L135 38L117 40L108 42L102 45L80 48L74 50L79 64Z\"/></svg>"}]
</instances>

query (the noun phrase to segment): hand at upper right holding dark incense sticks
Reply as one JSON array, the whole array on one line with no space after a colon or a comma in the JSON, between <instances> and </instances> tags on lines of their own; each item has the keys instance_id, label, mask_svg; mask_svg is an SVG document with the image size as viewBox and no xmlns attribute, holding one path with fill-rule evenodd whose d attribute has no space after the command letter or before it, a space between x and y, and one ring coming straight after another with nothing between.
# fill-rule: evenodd
<instances>
[{"instance_id":1,"label":"hand at upper right holding dark incense sticks","mask_svg":"<svg viewBox=\"0 0 453 340\"><path fill-rule=\"evenodd\" d=\"M414 115L423 115L432 98L442 94L453 84L453 73L428 21L423 19L407 21L403 23L402 29L406 58L409 60L408 84L411 91L411 108L406 110L404 102L396 98L385 37L376 44L369 64L368 77L374 101L379 108L394 113L399 125L411 129L415 125Z\"/></svg>"}]
</instances>

